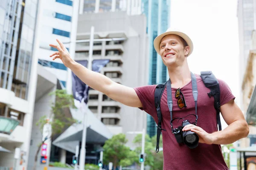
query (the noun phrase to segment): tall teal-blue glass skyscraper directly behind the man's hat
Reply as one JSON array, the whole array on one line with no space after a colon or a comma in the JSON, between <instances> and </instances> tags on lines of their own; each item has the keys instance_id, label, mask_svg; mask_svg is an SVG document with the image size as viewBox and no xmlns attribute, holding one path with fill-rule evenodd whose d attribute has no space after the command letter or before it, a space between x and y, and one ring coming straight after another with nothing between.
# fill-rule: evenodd
<instances>
[{"instance_id":1,"label":"tall teal-blue glass skyscraper directly behind the man's hat","mask_svg":"<svg viewBox=\"0 0 256 170\"><path fill-rule=\"evenodd\" d=\"M167 68L161 57L154 49L154 39L157 35L169 28L170 1L168 0L142 0L142 13L147 17L148 54L149 54L149 80L148 84L155 85L166 82L168 76ZM154 136L157 133L156 122L147 115L147 133Z\"/></svg>"}]
</instances>

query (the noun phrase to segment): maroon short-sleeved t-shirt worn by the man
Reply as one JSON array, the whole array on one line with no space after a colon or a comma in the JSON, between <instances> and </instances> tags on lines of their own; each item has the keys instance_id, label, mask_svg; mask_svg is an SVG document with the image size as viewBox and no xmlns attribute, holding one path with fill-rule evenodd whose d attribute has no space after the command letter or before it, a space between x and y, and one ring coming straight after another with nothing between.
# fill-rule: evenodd
<instances>
[{"instance_id":1,"label":"maroon short-sleeved t-shirt worn by the man","mask_svg":"<svg viewBox=\"0 0 256 170\"><path fill-rule=\"evenodd\" d=\"M206 88L204 82L199 75L196 75L198 85L198 124L197 126L203 128L207 133L218 131L216 110L214 108L214 98L207 95L209 88ZM221 90L221 105L235 99L229 86L222 80L218 79ZM155 122L158 122L157 111L154 106L154 91L156 85L146 85L134 88L140 101L143 105L141 110L150 114ZM186 108L178 108L177 99L175 98L175 91L177 88L172 88L173 100L173 119L179 117L183 118L189 114L195 114L195 102L192 95L192 82L180 88L186 100ZM167 91L166 88L161 98L161 113L163 135L163 156L164 156L164 170L228 170L227 164L221 152L221 146L218 144L202 144L198 147L190 149L185 144L177 143L174 134L172 134L170 125L170 112L167 105ZM187 116L185 119L189 122L195 122L195 116ZM177 119L176 119L177 120ZM181 126L182 120L173 122L173 127Z\"/></svg>"}]
</instances>

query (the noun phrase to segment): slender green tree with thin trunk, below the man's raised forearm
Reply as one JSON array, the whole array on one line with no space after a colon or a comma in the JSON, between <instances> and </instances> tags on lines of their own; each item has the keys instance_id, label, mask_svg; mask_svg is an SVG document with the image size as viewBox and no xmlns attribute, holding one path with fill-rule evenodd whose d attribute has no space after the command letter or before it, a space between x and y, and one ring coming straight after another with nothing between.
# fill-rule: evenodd
<instances>
[{"instance_id":1,"label":"slender green tree with thin trunk, below the man's raised forearm","mask_svg":"<svg viewBox=\"0 0 256 170\"><path fill-rule=\"evenodd\" d=\"M73 123L76 123L77 121L73 119L72 117L64 116L64 111L71 108L75 108L74 105L74 98L72 95L67 94L66 90L56 90L52 93L49 93L49 95L55 96L55 102L52 102L51 106L51 112L49 113L49 116L41 116L41 118L36 123L37 126L39 126L39 129L41 133L43 134L43 128L45 124L51 125L52 128L52 134L49 136L49 138L52 139L52 136L60 134L62 130L65 127L69 127ZM51 119L51 120L49 120ZM33 170L36 168L36 162L38 158L38 153L40 151L40 148L42 144L47 140L44 139L40 144L38 144L38 150L35 154L35 162Z\"/></svg>"}]
</instances>

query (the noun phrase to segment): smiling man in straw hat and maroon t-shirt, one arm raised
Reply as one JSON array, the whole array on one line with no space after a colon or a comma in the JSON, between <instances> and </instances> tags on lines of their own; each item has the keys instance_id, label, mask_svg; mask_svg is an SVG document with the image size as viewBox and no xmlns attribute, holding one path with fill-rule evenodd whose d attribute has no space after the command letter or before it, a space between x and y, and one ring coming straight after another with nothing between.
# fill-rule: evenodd
<instances>
[{"instance_id":1,"label":"smiling man in straw hat and maroon t-shirt, one arm raised","mask_svg":"<svg viewBox=\"0 0 256 170\"><path fill-rule=\"evenodd\" d=\"M58 49L50 55L53 60L61 59L64 65L70 68L85 84L124 105L144 110L157 122L157 111L154 105L156 85L130 88L113 82L108 77L90 71L75 62L64 45L59 40L57 42L59 45L50 44L50 46ZM172 90L173 119L183 118L195 122L195 117L191 116L191 114L195 114L192 74L187 63L187 57L193 51L192 40L180 31L168 29L156 37L154 48L168 68L172 86L170 89ZM246 137L249 133L247 122L234 102L235 97L228 85L224 81L218 80L221 89L220 110L228 125L224 130L218 131L214 99L208 97L209 89L205 87L201 77L199 75L195 75L195 77L198 86L198 122L197 126L190 124L183 128L183 131L191 130L198 134L199 144L194 149L190 149L185 144L177 143L175 135L172 134L171 116L167 105L167 88L163 92L160 107L163 116L162 128L166 129L166 131L162 131L164 170L227 170L228 167L222 156L220 144L231 144ZM184 102L183 107L177 103L177 100L180 99L175 97L177 90L183 94L180 96ZM174 127L180 126L181 122L174 121Z\"/></svg>"}]
</instances>

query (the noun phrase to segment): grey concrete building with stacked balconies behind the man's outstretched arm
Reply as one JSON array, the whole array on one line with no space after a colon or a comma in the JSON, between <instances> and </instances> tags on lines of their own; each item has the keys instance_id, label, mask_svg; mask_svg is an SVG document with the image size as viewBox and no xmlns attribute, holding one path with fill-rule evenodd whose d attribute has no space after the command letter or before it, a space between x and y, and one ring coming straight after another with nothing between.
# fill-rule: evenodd
<instances>
[{"instance_id":1,"label":"grey concrete building with stacked balconies behind the man's outstretched arm","mask_svg":"<svg viewBox=\"0 0 256 170\"><path fill-rule=\"evenodd\" d=\"M95 29L93 59L110 59L101 74L129 87L146 85L148 54L145 16L129 16L125 11L82 14L78 21L77 41L90 39L91 26ZM89 42L77 42L75 60L88 60L88 55ZM88 106L113 134L146 128L145 113L93 89L89 91ZM134 147L131 143L134 136L127 135L130 147Z\"/></svg>"}]
</instances>

